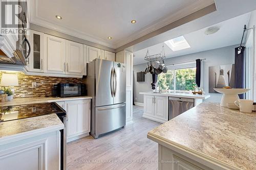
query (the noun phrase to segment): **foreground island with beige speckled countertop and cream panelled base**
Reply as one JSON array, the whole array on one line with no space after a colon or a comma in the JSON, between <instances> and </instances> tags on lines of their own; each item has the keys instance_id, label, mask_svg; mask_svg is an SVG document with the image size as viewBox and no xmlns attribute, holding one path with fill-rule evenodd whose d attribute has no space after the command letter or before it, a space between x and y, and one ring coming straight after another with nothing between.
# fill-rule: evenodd
<instances>
[{"instance_id":1,"label":"foreground island with beige speckled countertop and cream panelled base","mask_svg":"<svg viewBox=\"0 0 256 170\"><path fill-rule=\"evenodd\" d=\"M159 170L256 169L256 113L202 103L151 130Z\"/></svg>"}]
</instances>

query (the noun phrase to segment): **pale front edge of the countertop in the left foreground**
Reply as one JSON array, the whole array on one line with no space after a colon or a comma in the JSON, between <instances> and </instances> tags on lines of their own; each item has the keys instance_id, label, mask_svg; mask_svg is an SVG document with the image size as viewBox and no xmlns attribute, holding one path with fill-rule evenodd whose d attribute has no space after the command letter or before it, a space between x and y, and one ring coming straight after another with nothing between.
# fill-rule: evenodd
<instances>
[{"instance_id":1,"label":"pale front edge of the countertop in the left foreground","mask_svg":"<svg viewBox=\"0 0 256 170\"><path fill-rule=\"evenodd\" d=\"M47 127L47 128L39 128L39 129L27 131L27 132L13 134L13 135L10 135L10 136L4 136L4 137L0 138L0 145L15 142L15 141L18 141L18 140L31 138L31 137L34 137L34 136L38 136L38 135L42 135L42 134L46 134L46 133L50 133L50 132L54 132L54 131L59 131L61 129L64 129L63 124L53 125L53 126L50 126L50 127Z\"/></svg>"}]
</instances>

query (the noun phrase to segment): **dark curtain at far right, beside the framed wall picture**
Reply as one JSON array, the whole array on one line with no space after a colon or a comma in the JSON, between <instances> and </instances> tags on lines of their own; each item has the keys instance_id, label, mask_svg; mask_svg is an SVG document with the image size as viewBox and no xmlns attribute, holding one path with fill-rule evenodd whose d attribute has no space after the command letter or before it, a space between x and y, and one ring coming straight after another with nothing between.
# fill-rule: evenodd
<instances>
[{"instance_id":1,"label":"dark curtain at far right, beside the framed wall picture","mask_svg":"<svg viewBox=\"0 0 256 170\"><path fill-rule=\"evenodd\" d=\"M234 48L234 73L236 88L245 88L245 47ZM240 99L245 98L245 94L239 94Z\"/></svg>"}]
</instances>

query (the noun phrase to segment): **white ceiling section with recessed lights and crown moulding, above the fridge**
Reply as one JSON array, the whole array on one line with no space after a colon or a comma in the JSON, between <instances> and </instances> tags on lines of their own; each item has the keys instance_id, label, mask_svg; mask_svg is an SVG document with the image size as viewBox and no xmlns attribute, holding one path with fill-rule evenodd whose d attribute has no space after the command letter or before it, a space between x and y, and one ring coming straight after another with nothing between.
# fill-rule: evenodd
<instances>
[{"instance_id":1,"label":"white ceiling section with recessed lights and crown moulding, above the fridge","mask_svg":"<svg viewBox=\"0 0 256 170\"><path fill-rule=\"evenodd\" d=\"M30 22L36 25L118 48L213 3L214 0L34 0L29 5ZM56 15L62 19L56 19ZM137 20L135 24L131 23L133 19Z\"/></svg>"}]
</instances>

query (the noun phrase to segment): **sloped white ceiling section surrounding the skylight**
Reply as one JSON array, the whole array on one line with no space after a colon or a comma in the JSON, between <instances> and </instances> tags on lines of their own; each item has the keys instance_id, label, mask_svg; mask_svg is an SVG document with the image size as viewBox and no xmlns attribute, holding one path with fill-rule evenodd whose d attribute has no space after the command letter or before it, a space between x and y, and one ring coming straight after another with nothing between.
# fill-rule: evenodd
<instances>
[{"instance_id":1,"label":"sloped white ceiling section surrounding the skylight","mask_svg":"<svg viewBox=\"0 0 256 170\"><path fill-rule=\"evenodd\" d=\"M222 21L220 23L217 23L216 25L212 25L220 28L220 30L217 33L205 35L204 32L208 28L207 27L195 32L185 34L183 36L190 45L190 48L184 50L173 52L163 42L144 48L142 50L134 52L134 65L145 63L144 57L147 52L147 49L151 55L158 54L161 51L162 45L164 45L166 58L171 58L191 53L212 50L224 46L239 44L242 38L243 26L248 25L249 19L250 12Z\"/></svg>"}]
</instances>

